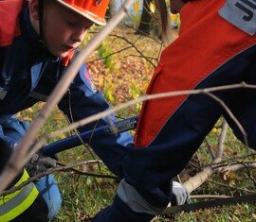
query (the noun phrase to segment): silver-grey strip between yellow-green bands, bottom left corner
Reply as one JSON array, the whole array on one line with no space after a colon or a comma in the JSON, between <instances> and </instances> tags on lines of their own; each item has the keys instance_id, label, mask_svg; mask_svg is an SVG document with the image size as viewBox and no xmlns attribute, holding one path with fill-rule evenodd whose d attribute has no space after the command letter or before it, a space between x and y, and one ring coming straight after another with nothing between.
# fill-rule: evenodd
<instances>
[{"instance_id":1,"label":"silver-grey strip between yellow-green bands, bottom left corner","mask_svg":"<svg viewBox=\"0 0 256 222\"><path fill-rule=\"evenodd\" d=\"M22 191L18 195L10 198L3 205L0 205L0 215L8 213L9 211L20 205L27 198L27 196L30 195L34 186L34 183L30 182L22 189ZM5 196L1 196L0 198L5 199Z\"/></svg>"}]
</instances>

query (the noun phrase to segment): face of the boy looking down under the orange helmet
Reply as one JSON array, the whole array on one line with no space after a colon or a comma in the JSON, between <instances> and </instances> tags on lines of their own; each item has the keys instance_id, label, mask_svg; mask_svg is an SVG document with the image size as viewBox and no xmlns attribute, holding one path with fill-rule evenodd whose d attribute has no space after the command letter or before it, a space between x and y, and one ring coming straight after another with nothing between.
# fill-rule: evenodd
<instances>
[{"instance_id":1,"label":"face of the boy looking down under the orange helmet","mask_svg":"<svg viewBox=\"0 0 256 222\"><path fill-rule=\"evenodd\" d=\"M82 42L93 23L55 1L47 1L44 18L44 38L51 54L65 57Z\"/></svg>"}]
</instances>

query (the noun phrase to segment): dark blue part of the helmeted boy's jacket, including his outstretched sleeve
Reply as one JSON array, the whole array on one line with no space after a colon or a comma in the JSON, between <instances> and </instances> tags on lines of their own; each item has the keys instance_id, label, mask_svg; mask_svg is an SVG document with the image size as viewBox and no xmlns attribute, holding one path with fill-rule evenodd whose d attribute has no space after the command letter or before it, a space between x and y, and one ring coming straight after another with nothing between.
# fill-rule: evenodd
<instances>
[{"instance_id":1,"label":"dark blue part of the helmeted boy's jacket, including his outstretched sleeve","mask_svg":"<svg viewBox=\"0 0 256 222\"><path fill-rule=\"evenodd\" d=\"M38 101L44 101L52 92L66 67L62 58L57 58L39 44L39 38L30 24L28 9L19 19L21 34L9 45L0 48L0 139L13 145L26 133L26 124L13 115ZM109 109L102 94L92 88L88 69L82 65L77 77L69 87L59 108L70 122ZM72 118L70 117L70 107ZM115 121L115 117L111 117ZM106 119L80 128L81 131L107 124ZM128 133L103 138L90 144L101 160L121 177L118 167L124 147L132 142Z\"/></svg>"}]
</instances>

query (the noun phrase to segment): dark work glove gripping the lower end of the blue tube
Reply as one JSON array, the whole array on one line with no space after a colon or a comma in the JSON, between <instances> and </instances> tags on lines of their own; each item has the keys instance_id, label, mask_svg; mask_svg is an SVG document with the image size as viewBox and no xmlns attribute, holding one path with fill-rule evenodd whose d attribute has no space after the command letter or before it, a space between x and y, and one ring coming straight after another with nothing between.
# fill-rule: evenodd
<instances>
[{"instance_id":1,"label":"dark work glove gripping the lower end of the blue tube","mask_svg":"<svg viewBox=\"0 0 256 222\"><path fill-rule=\"evenodd\" d=\"M57 163L57 157L46 157L42 150L35 153L31 160L27 162L26 169L30 177L33 177L39 173L46 172L47 169L55 167Z\"/></svg>"}]
</instances>

